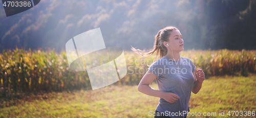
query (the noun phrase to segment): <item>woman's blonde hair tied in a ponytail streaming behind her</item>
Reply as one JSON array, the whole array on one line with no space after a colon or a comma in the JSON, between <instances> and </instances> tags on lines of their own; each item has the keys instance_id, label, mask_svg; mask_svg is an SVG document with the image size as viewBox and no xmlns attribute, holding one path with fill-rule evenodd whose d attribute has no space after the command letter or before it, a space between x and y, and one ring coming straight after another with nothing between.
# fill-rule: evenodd
<instances>
[{"instance_id":1,"label":"woman's blonde hair tied in a ponytail streaming behind her","mask_svg":"<svg viewBox=\"0 0 256 118\"><path fill-rule=\"evenodd\" d=\"M176 30L179 31L179 29L174 26L167 26L158 31L157 35L155 36L154 47L148 52L135 49L134 47L132 47L132 50L142 56L149 56L154 54L154 52L157 52L156 57L161 58L167 54L167 48L163 45L163 42L167 42L169 40L170 33Z\"/></svg>"}]
</instances>

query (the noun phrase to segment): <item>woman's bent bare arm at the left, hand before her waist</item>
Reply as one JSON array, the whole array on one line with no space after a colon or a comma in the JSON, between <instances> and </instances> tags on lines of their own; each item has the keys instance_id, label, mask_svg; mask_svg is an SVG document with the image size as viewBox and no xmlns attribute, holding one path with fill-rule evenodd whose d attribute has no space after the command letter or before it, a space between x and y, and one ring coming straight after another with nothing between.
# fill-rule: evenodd
<instances>
[{"instance_id":1,"label":"woman's bent bare arm at the left, hand before her waist","mask_svg":"<svg viewBox=\"0 0 256 118\"><path fill-rule=\"evenodd\" d=\"M142 77L138 85L138 91L149 96L163 98L164 100L170 103L173 103L180 99L180 97L174 93L162 92L150 87L150 84L156 78L157 76L148 70L146 74Z\"/></svg>"}]
</instances>

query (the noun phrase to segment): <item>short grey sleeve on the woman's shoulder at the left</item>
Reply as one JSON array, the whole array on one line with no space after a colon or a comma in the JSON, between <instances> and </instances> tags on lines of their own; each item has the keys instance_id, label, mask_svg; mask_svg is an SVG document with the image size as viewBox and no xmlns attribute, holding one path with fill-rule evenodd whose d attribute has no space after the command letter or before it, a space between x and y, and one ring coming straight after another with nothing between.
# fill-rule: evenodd
<instances>
[{"instance_id":1,"label":"short grey sleeve on the woman's shoulder at the left","mask_svg":"<svg viewBox=\"0 0 256 118\"><path fill-rule=\"evenodd\" d=\"M163 65L161 65L160 61L154 62L150 68L148 68L153 74L155 74L158 78L163 74Z\"/></svg>"}]
</instances>

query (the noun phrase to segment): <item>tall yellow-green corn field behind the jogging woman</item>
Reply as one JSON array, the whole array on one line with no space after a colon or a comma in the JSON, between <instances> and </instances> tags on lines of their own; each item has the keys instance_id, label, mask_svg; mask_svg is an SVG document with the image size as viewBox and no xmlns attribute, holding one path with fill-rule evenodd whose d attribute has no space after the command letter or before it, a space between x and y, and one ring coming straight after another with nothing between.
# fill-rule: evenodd
<instances>
[{"instance_id":1,"label":"tall yellow-green corn field behind the jogging woman","mask_svg":"<svg viewBox=\"0 0 256 118\"><path fill-rule=\"evenodd\" d=\"M143 57L125 51L127 74L114 84L138 84L147 68L155 61L154 55ZM256 73L256 50L188 50L189 57L207 76L247 76ZM66 52L5 50L0 54L0 98L6 93L59 92L90 90L86 71L69 69Z\"/></svg>"}]
</instances>

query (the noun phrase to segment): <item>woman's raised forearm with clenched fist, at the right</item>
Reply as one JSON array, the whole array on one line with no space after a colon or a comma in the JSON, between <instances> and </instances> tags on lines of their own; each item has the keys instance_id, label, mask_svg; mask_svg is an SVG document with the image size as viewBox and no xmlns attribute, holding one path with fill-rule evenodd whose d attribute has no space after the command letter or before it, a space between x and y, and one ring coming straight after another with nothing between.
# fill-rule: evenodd
<instances>
[{"instance_id":1,"label":"woman's raised forearm with clenched fist, at the right","mask_svg":"<svg viewBox=\"0 0 256 118\"><path fill-rule=\"evenodd\" d=\"M193 84L191 92L193 92L194 94L197 94L201 90L202 83L205 80L205 76L202 69L197 69L197 73L195 74L195 72L193 72L193 75L195 78L195 83Z\"/></svg>"}]
</instances>

